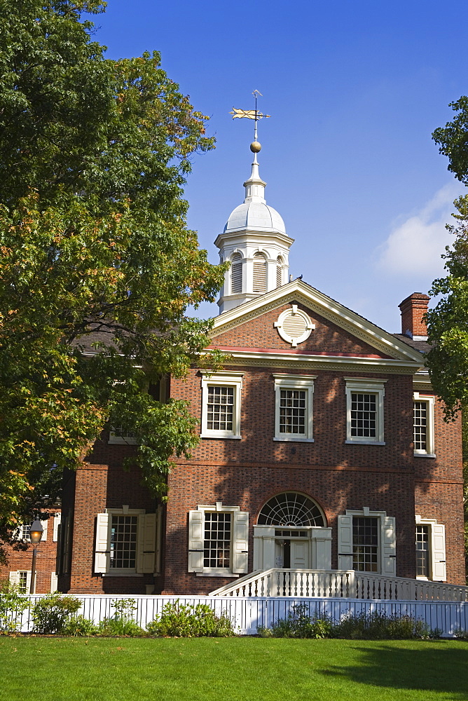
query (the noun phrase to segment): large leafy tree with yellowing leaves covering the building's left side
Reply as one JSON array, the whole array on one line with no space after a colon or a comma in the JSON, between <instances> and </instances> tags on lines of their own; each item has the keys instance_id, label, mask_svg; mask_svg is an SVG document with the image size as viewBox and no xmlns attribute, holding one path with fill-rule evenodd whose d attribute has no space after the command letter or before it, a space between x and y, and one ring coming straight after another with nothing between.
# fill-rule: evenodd
<instances>
[{"instance_id":1,"label":"large leafy tree with yellowing leaves covering the building's left side","mask_svg":"<svg viewBox=\"0 0 468 701\"><path fill-rule=\"evenodd\" d=\"M151 387L208 343L186 309L214 299L223 268L187 229L182 186L213 139L157 53L106 60L81 16L103 10L0 0L4 541L104 428L141 436L132 459L158 494L197 440L185 404Z\"/></svg>"}]
</instances>

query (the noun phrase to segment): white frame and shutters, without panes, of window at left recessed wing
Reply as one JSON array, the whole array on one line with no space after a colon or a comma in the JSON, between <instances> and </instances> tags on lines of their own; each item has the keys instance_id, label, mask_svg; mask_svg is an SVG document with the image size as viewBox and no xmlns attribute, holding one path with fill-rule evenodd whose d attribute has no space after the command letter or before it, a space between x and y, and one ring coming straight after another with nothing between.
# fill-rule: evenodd
<instances>
[{"instance_id":1,"label":"white frame and shutters, without panes, of window at left recessed wing","mask_svg":"<svg viewBox=\"0 0 468 701\"><path fill-rule=\"evenodd\" d=\"M110 543L112 515L137 516L137 553L135 568L111 568ZM107 519L106 533L102 533L102 519ZM156 565L156 550L160 531L158 530L158 514L146 513L144 509L130 509L123 505L121 509L105 509L97 514L97 534L95 548L95 569L103 577L143 577L144 573L153 573ZM106 545L104 545L104 540ZM103 550L104 547L104 550ZM102 557L105 555L106 557ZM105 562L104 562L105 560Z\"/></svg>"}]
</instances>

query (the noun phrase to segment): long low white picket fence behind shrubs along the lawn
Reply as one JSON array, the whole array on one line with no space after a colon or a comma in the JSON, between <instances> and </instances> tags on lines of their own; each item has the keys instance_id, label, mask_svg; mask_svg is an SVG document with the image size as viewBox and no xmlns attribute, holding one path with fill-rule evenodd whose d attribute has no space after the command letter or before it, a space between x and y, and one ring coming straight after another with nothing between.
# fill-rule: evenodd
<instances>
[{"instance_id":1,"label":"long low white picket fence behind shrubs along the lawn","mask_svg":"<svg viewBox=\"0 0 468 701\"><path fill-rule=\"evenodd\" d=\"M31 608L34 601L40 598L39 594L29 597L31 605L22 615L22 632L32 631ZM158 618L165 604L179 601L179 604L189 606L208 604L218 615L228 615L235 631L245 635L256 634L259 626L269 628L279 618L286 618L296 604L305 604L309 615L326 613L335 622L348 615L378 611L388 616L411 615L414 619L422 619L432 630L438 628L443 637L453 637L460 629L468 631L468 602L463 601L369 601L325 597L122 597L110 594L76 594L76 598L82 602L78 613L95 623L113 615L113 601L134 599L137 605L134 618L143 628Z\"/></svg>"}]
</instances>

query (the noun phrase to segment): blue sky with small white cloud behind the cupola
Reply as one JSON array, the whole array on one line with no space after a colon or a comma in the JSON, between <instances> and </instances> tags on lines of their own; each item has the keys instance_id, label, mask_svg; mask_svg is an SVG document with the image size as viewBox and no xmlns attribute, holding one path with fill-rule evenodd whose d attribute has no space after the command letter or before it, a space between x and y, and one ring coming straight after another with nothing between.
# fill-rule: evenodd
<instances>
[{"instance_id":1,"label":"blue sky with small white cloud behind the cupola","mask_svg":"<svg viewBox=\"0 0 468 701\"><path fill-rule=\"evenodd\" d=\"M390 332L399 302L443 274L444 224L464 192L431 134L468 92L464 0L109 0L94 18L111 58L159 50L209 115L216 150L193 158L188 224L209 259L243 199L259 109L260 173L282 215L290 273ZM214 315L206 305L200 315Z\"/></svg>"}]
</instances>

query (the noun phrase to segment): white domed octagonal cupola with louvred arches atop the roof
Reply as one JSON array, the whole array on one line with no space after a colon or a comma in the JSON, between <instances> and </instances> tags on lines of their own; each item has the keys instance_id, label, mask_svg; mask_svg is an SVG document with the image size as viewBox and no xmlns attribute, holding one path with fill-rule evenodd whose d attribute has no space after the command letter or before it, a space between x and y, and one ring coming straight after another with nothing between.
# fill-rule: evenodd
<instances>
[{"instance_id":1,"label":"white domed octagonal cupola with louvred arches atop the roof","mask_svg":"<svg viewBox=\"0 0 468 701\"><path fill-rule=\"evenodd\" d=\"M266 182L259 175L257 161L260 149L258 141L250 144L255 156L252 173L244 183L245 200L231 212L214 242L221 263L230 261L218 301L220 314L288 281L289 247L294 238L287 236L282 217L266 203Z\"/></svg>"}]
</instances>

